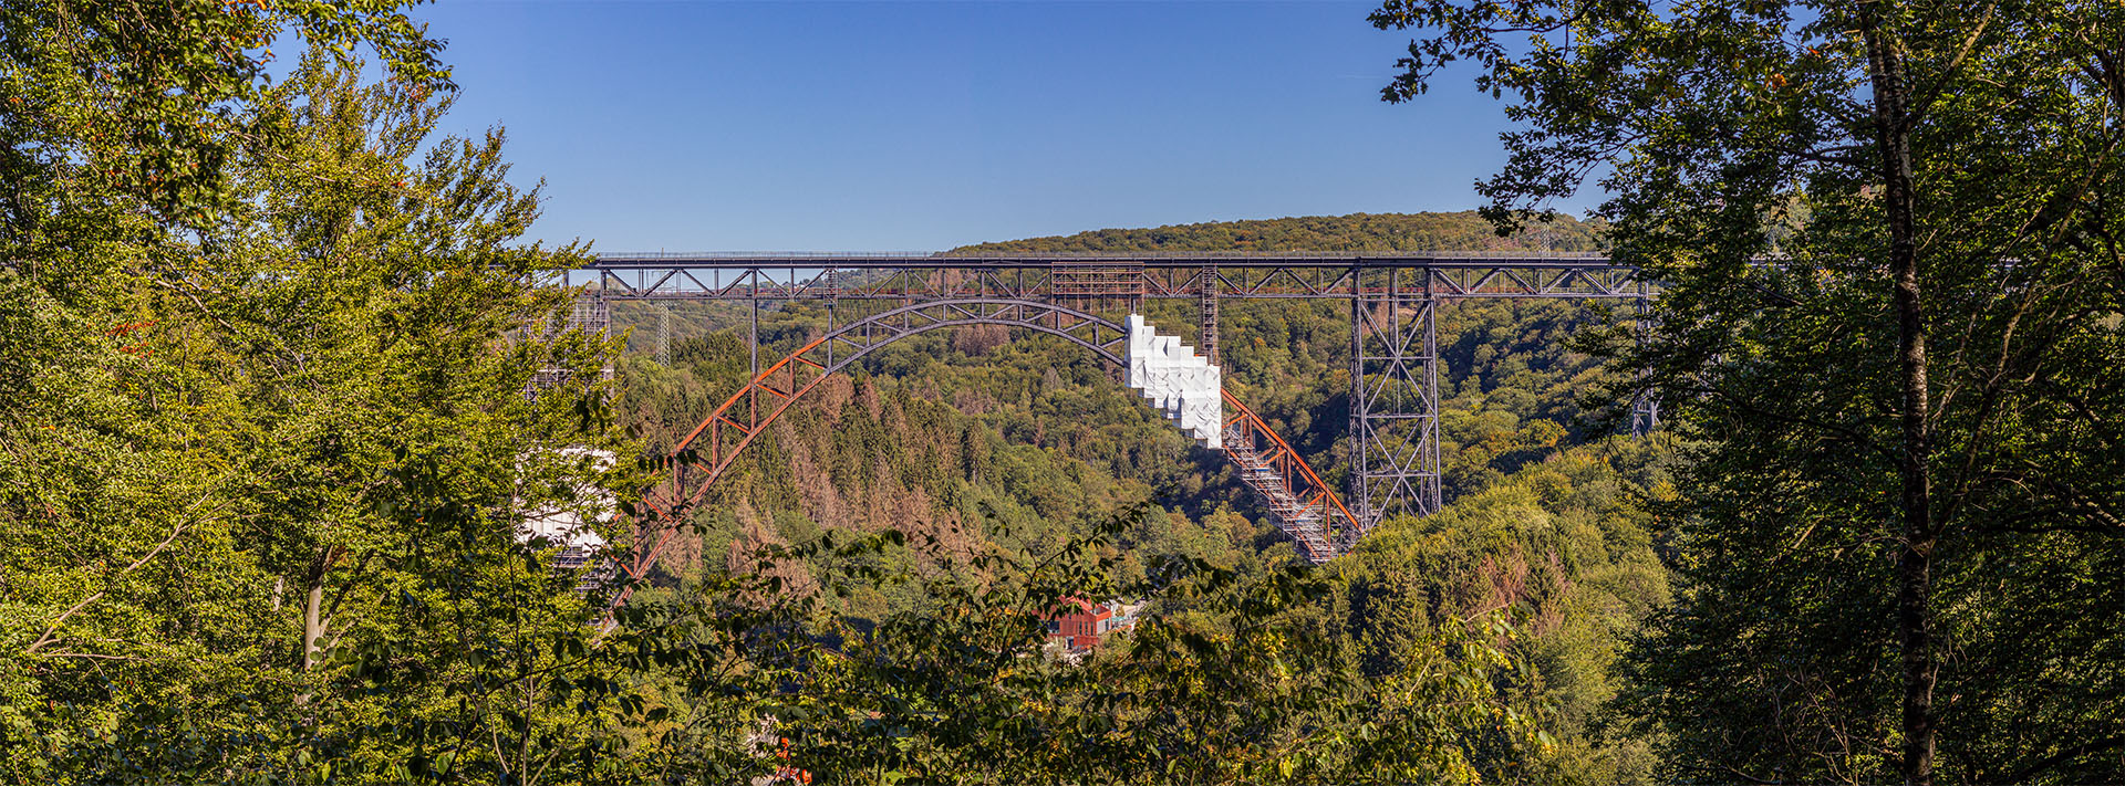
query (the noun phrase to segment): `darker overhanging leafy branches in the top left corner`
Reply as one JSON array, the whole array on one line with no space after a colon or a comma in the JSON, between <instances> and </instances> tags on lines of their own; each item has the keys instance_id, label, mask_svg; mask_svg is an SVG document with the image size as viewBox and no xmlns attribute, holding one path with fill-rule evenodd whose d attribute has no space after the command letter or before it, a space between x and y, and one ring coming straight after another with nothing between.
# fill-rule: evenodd
<instances>
[{"instance_id":1,"label":"darker overhanging leafy branches in the top left corner","mask_svg":"<svg viewBox=\"0 0 2125 786\"><path fill-rule=\"evenodd\" d=\"M89 227L74 219L134 206L187 225L215 221L236 198L223 178L236 147L270 134L251 110L278 36L342 62L355 45L370 45L393 81L450 89L436 62L440 45L400 13L402 4L0 6L0 178L13 195L4 210L15 229L4 242L34 242L42 232L79 238Z\"/></svg>"}]
</instances>

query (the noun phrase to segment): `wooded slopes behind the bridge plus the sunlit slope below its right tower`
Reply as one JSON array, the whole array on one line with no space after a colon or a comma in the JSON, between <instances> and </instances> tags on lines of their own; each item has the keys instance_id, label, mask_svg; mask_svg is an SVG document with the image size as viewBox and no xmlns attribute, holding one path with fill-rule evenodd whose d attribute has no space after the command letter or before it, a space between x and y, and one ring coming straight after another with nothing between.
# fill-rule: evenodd
<instances>
[{"instance_id":1,"label":"wooded slopes behind the bridge plus the sunlit slope below its right tower","mask_svg":"<svg viewBox=\"0 0 2125 786\"><path fill-rule=\"evenodd\" d=\"M1069 238L980 244L980 251L1587 251L1596 227L1560 219L1536 236L1498 238L1473 212L1354 215L1160 229L1103 229ZM1343 486L1347 304L1226 302L1226 385ZM1194 304L1152 302L1169 331L1194 331ZM716 306L618 304L629 331L620 363L623 418L650 444L688 431L746 372L744 325ZM669 319L669 327L665 327ZM1643 775L1643 744L1594 737L1592 718L1615 693L1609 663L1636 620L1666 601L1666 574L1630 499L1660 486L1655 452L1611 438L1579 395L1600 363L1572 336L1600 310L1568 302L1441 306L1441 433L1447 512L1390 520L1334 565L1347 576L1332 629L1368 669L1392 673L1436 627L1485 612L1524 614L1517 648L1538 669L1519 684L1528 712L1556 710L1562 744L1528 778ZM763 344L795 346L822 329L820 306L763 310ZM657 363L652 331L684 336ZM774 353L763 351L763 357ZM765 363L765 361L763 361ZM1109 546L1124 580L1162 557L1235 569L1294 563L1292 546L1224 457L1192 446L1114 372L1082 348L1001 327L924 334L871 355L865 372L831 380L774 438L748 448L686 535L684 567L752 569L761 546L803 544L822 531L901 529L929 548L888 548L903 569L952 569L986 552L1041 557L1082 537L1120 506L1156 508ZM816 586L818 565L774 567ZM674 576L676 578L676 576ZM882 620L933 610L907 586L861 586L839 614ZM1186 608L1162 608L1186 614ZM1545 775L1547 773L1547 775Z\"/></svg>"}]
</instances>

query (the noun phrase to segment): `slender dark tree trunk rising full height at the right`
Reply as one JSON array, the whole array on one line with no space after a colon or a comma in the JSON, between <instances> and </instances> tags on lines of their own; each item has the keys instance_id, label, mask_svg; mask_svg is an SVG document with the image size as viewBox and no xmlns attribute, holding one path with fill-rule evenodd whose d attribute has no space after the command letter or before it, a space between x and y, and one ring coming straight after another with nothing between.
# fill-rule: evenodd
<instances>
[{"instance_id":1,"label":"slender dark tree trunk rising full height at the right","mask_svg":"<svg viewBox=\"0 0 2125 786\"><path fill-rule=\"evenodd\" d=\"M1870 81L1874 85L1874 142L1881 157L1889 217L1889 276L1893 278L1898 365L1902 382L1902 508L1904 548L1896 565L1896 622L1904 650L1904 782L1934 782L1934 656L1932 567L1934 501L1930 486L1932 438L1925 395L1925 312L1919 300L1917 195L1910 174L1910 125L1904 66L1881 32L1878 0L1859 4Z\"/></svg>"}]
</instances>

